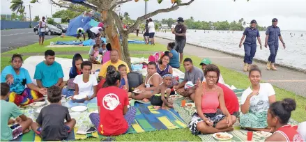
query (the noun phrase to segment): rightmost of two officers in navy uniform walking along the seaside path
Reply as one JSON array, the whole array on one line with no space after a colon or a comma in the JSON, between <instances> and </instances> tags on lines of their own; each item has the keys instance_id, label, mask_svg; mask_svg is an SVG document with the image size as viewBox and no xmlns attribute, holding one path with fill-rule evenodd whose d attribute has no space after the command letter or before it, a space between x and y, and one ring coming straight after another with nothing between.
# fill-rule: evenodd
<instances>
[{"instance_id":1,"label":"rightmost of two officers in navy uniform walking along the seaside path","mask_svg":"<svg viewBox=\"0 0 306 142\"><path fill-rule=\"evenodd\" d=\"M268 47L270 49L270 56L268 58L267 63L267 70L277 70L275 68L275 58L277 55L278 50L278 38L280 38L280 41L282 42L282 46L284 49L286 49L286 45L284 43L284 40L282 40L282 35L280 34L280 28L277 26L278 20L276 18L272 19L272 26L268 26L266 31L266 40L265 40L265 47Z\"/></svg>"}]
</instances>

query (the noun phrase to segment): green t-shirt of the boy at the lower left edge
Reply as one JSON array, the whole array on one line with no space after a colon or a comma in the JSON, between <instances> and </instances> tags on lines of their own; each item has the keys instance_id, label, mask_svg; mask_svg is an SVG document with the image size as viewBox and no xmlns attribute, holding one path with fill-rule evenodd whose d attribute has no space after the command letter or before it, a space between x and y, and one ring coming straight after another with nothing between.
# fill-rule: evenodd
<instances>
[{"instance_id":1,"label":"green t-shirt of the boy at the lower left edge","mask_svg":"<svg viewBox=\"0 0 306 142\"><path fill-rule=\"evenodd\" d=\"M13 102L1 100L1 140L10 141L13 139L12 129L8 127L8 120L13 116L17 118L22 111Z\"/></svg>"}]
</instances>

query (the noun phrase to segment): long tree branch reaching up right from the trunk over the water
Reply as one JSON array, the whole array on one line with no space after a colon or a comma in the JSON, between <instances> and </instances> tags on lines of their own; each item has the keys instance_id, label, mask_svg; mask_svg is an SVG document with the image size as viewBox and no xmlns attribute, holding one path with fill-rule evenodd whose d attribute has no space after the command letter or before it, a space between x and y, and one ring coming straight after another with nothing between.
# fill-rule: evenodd
<instances>
[{"instance_id":1,"label":"long tree branch reaching up right from the trunk over the water","mask_svg":"<svg viewBox=\"0 0 306 142\"><path fill-rule=\"evenodd\" d=\"M167 13L167 12L170 12L170 11L177 10L178 8L180 8L180 6L188 6L193 1L194 0L190 0L188 3L178 3L175 6L171 6L171 8L158 9L158 10L153 11L152 13L148 13L146 15L138 17L136 22L132 26L129 27L128 31L129 31L129 33L132 33L132 31L134 31L137 28L137 26L140 24L140 22L144 21L145 19L148 19L148 17L153 17L155 15L158 15L159 13Z\"/></svg>"}]
</instances>

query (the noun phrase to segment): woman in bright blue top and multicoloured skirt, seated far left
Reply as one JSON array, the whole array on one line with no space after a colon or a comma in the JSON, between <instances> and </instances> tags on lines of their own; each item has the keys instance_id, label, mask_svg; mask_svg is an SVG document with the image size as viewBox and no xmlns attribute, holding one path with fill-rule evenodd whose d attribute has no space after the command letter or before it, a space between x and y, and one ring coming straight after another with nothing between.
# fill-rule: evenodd
<instances>
[{"instance_id":1,"label":"woman in bright blue top and multicoloured skirt, seated far left","mask_svg":"<svg viewBox=\"0 0 306 142\"><path fill-rule=\"evenodd\" d=\"M1 83L10 85L8 101L14 102L17 106L44 100L43 95L47 94L46 88L39 88L32 83L28 70L22 68L22 61L22 55L13 54L11 65L6 66L1 72Z\"/></svg>"}]
</instances>

